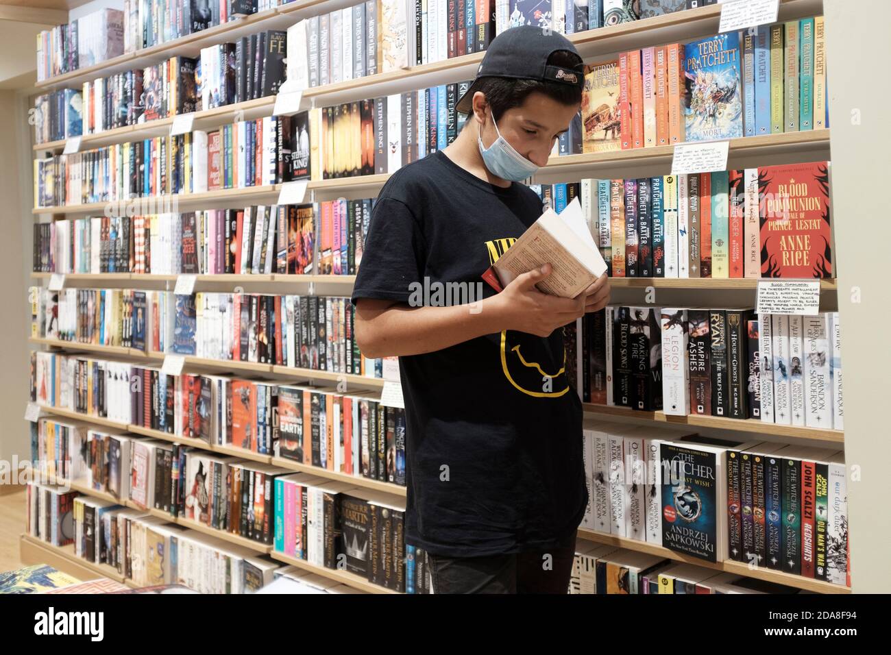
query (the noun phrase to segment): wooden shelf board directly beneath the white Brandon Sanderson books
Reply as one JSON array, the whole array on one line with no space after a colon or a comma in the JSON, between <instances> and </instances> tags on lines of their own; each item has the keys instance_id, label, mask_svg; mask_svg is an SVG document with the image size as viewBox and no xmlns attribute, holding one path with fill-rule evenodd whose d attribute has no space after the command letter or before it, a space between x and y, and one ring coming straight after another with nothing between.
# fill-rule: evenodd
<instances>
[{"instance_id":1,"label":"wooden shelf board directly beneath the white Brandon Sanderson books","mask_svg":"<svg viewBox=\"0 0 891 655\"><path fill-rule=\"evenodd\" d=\"M611 416L620 416L639 422L661 422L666 425L692 428L713 428L715 430L738 430L740 432L753 432L756 434L771 435L789 440L816 440L826 442L827 447L841 447L845 443L845 433L842 430L822 430L820 428L805 428L793 425L778 425L767 423L757 419L730 419L723 416L704 416L690 414L688 416L669 416L664 412L640 412L628 407L612 405L594 405L583 403L584 411L598 417L609 420Z\"/></svg>"}]
</instances>

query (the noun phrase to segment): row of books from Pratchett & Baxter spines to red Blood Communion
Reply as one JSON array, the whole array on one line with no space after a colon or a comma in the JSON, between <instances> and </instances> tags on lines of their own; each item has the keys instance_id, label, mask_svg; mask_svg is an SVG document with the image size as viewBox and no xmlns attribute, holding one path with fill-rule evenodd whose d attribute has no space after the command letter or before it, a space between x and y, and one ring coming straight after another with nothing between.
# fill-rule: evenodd
<instances>
[{"instance_id":1,"label":"row of books from Pratchett & Baxter spines to red Blood Communion","mask_svg":"<svg viewBox=\"0 0 891 655\"><path fill-rule=\"evenodd\" d=\"M830 278L830 164L533 184L578 198L610 277Z\"/></svg>"}]
</instances>

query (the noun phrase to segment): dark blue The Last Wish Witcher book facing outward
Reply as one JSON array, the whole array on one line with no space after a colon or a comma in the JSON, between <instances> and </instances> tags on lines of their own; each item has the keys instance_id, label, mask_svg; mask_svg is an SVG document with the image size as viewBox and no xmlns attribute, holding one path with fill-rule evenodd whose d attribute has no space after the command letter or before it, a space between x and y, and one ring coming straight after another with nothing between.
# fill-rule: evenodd
<instances>
[{"instance_id":1,"label":"dark blue The Last Wish Witcher book facing outward","mask_svg":"<svg viewBox=\"0 0 891 655\"><path fill-rule=\"evenodd\" d=\"M662 545L705 561L717 561L718 458L714 447L664 442Z\"/></svg>"}]
</instances>

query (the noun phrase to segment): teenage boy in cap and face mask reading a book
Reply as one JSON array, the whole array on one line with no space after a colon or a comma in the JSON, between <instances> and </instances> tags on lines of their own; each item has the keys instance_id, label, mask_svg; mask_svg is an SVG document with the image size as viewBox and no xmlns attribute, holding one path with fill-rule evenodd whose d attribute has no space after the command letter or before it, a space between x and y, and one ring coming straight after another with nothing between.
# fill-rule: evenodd
<instances>
[{"instance_id":1,"label":"teenage boy in cap and face mask reading a book","mask_svg":"<svg viewBox=\"0 0 891 655\"><path fill-rule=\"evenodd\" d=\"M587 492L561 328L604 307L609 280L563 299L535 288L550 264L501 293L480 275L541 216L520 181L547 163L583 84L568 39L506 30L457 103L469 116L454 143L390 176L372 212L356 340L399 356L405 541L429 554L435 594L567 593ZM463 304L419 302L437 286Z\"/></svg>"}]
</instances>

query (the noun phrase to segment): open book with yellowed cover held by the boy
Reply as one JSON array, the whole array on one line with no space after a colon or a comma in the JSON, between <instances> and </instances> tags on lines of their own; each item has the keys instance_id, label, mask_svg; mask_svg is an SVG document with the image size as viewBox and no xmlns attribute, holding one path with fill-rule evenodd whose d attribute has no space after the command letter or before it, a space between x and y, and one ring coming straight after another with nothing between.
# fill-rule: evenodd
<instances>
[{"instance_id":1,"label":"open book with yellowed cover held by the boy","mask_svg":"<svg viewBox=\"0 0 891 655\"><path fill-rule=\"evenodd\" d=\"M601 251L582 215L582 205L574 198L558 214L548 209L526 232L490 266L483 279L495 291L502 291L519 275L544 264L552 273L535 287L561 298L575 298L607 270Z\"/></svg>"}]
</instances>

